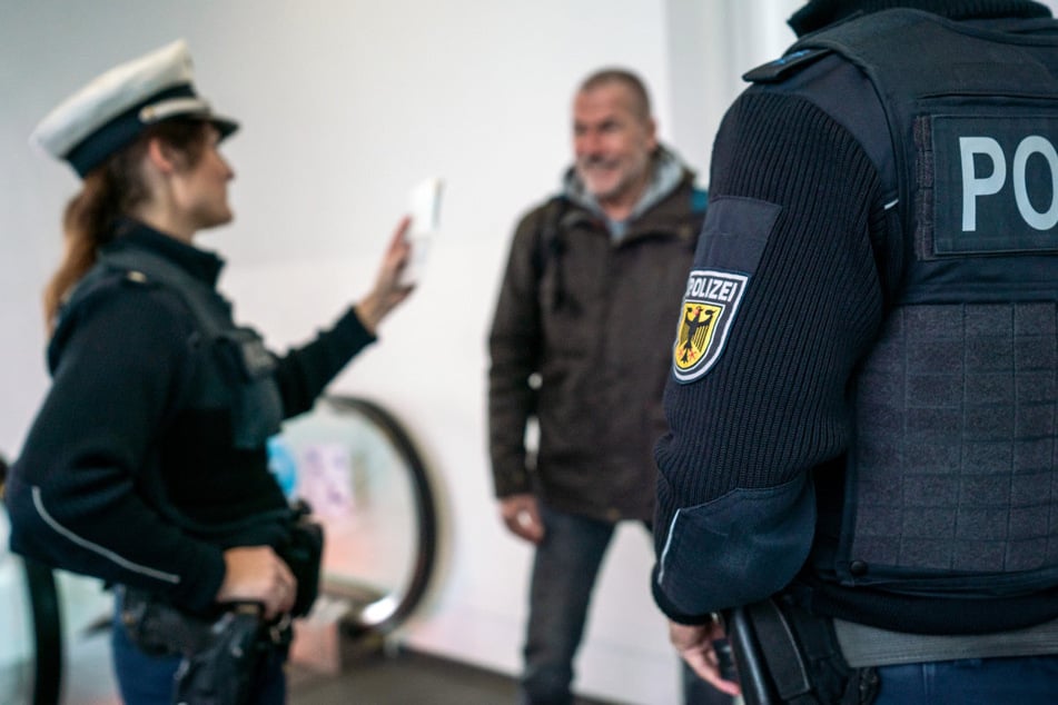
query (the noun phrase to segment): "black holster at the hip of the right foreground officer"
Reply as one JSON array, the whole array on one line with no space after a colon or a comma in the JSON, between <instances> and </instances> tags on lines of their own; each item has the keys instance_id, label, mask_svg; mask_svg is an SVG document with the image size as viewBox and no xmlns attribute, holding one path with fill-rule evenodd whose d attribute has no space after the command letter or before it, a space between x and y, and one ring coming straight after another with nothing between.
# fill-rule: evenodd
<instances>
[{"instance_id":1,"label":"black holster at the hip of the right foreground officer","mask_svg":"<svg viewBox=\"0 0 1058 705\"><path fill-rule=\"evenodd\" d=\"M723 614L745 705L869 705L873 668L851 668L833 622L788 595Z\"/></svg>"}]
</instances>

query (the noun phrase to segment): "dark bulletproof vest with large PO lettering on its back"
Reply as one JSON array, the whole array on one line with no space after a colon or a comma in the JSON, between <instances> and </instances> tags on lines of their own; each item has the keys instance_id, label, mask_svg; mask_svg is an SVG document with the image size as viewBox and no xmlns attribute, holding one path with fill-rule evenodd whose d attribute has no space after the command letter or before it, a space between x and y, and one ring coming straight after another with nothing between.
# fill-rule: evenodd
<instances>
[{"instance_id":1,"label":"dark bulletproof vest with large PO lettering on its back","mask_svg":"<svg viewBox=\"0 0 1058 705\"><path fill-rule=\"evenodd\" d=\"M820 100L874 160L903 239L903 279L850 390L841 584L962 597L1058 585L1056 27L890 10L787 57L837 54L873 89L874 118L848 96Z\"/></svg>"}]
</instances>

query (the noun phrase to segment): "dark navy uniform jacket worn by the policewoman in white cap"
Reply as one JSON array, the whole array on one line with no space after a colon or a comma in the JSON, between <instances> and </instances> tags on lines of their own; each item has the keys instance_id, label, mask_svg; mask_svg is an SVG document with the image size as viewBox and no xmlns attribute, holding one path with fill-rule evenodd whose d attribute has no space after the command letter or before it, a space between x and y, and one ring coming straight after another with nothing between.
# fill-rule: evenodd
<instances>
[{"instance_id":1,"label":"dark navy uniform jacket worn by the policewoman in white cap","mask_svg":"<svg viewBox=\"0 0 1058 705\"><path fill-rule=\"evenodd\" d=\"M349 309L310 344L273 356L231 322L214 288L218 257L140 224L120 227L60 312L52 387L7 488L11 546L202 610L224 578L225 548L287 539L267 434L308 410L374 337ZM275 419L255 411L271 404Z\"/></svg>"}]
</instances>

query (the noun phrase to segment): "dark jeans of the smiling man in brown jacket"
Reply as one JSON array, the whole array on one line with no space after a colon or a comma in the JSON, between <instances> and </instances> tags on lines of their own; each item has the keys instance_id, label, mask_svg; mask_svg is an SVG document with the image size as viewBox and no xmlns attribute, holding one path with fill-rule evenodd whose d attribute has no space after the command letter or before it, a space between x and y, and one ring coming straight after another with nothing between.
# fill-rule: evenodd
<instances>
[{"instance_id":1,"label":"dark jeans of the smiling man in brown jacket","mask_svg":"<svg viewBox=\"0 0 1058 705\"><path fill-rule=\"evenodd\" d=\"M568 705L574 702L573 659L584 635L592 590L615 525L556 512L543 503L540 510L545 535L533 562L521 702ZM657 616L659 628L663 628L661 613ZM690 669L684 667L684 671L688 705L730 705L729 696Z\"/></svg>"}]
</instances>

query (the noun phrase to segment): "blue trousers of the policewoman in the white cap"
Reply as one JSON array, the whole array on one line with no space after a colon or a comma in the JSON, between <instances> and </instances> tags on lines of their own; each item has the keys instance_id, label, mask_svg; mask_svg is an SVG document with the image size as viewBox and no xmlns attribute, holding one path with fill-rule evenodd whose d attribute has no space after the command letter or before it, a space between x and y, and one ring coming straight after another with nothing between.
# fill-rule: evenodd
<instances>
[{"instance_id":1,"label":"blue trousers of the policewoman in the white cap","mask_svg":"<svg viewBox=\"0 0 1058 705\"><path fill-rule=\"evenodd\" d=\"M115 619L110 633L113 671L125 705L169 705L179 656L151 656L129 641L121 625L120 598L116 600ZM256 705L286 703L286 674L283 657L273 653L271 662L261 669L251 702Z\"/></svg>"}]
</instances>

